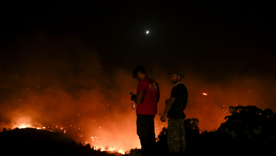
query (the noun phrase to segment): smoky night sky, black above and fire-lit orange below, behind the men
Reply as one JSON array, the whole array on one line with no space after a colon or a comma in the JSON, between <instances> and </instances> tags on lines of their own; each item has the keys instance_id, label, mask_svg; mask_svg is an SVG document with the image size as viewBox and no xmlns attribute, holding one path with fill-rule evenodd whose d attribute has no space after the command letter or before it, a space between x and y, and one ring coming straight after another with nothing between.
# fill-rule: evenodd
<instances>
[{"instance_id":1,"label":"smoky night sky, black above and fire-lit orange below, behind the men","mask_svg":"<svg viewBox=\"0 0 276 156\"><path fill-rule=\"evenodd\" d=\"M129 94L136 93L131 74L138 65L159 83L158 114L173 86L168 72L185 73L185 114L199 119L201 131L225 122L231 105L275 112L273 6L1 2L0 128L29 124L70 133L75 126L73 139L92 146L139 147ZM167 123L155 119L158 134Z\"/></svg>"}]
</instances>

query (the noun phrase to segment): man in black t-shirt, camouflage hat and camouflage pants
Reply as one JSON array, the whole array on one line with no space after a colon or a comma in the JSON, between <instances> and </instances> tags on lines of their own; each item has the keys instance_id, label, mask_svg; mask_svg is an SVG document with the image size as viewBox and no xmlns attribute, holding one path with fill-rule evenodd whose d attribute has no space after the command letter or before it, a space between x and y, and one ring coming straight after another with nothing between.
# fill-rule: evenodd
<instances>
[{"instance_id":1,"label":"man in black t-shirt, camouflage hat and camouflage pants","mask_svg":"<svg viewBox=\"0 0 276 156\"><path fill-rule=\"evenodd\" d=\"M168 147L173 155L179 155L186 152L186 140L184 130L185 113L184 110L188 101L188 91L182 83L181 78L185 75L180 70L174 70L169 73L171 81L175 84L172 88L169 100L166 100L166 108L160 120L164 122L165 116L168 119Z\"/></svg>"}]
</instances>

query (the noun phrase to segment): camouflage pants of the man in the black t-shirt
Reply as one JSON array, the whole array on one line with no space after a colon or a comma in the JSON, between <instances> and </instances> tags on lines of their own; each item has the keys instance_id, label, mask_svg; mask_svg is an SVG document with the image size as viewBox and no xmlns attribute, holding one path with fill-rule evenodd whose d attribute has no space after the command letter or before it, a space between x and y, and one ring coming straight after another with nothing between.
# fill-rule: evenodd
<instances>
[{"instance_id":1,"label":"camouflage pants of the man in the black t-shirt","mask_svg":"<svg viewBox=\"0 0 276 156\"><path fill-rule=\"evenodd\" d=\"M168 119L168 147L171 153L184 153L186 140L184 130L185 119Z\"/></svg>"}]
</instances>

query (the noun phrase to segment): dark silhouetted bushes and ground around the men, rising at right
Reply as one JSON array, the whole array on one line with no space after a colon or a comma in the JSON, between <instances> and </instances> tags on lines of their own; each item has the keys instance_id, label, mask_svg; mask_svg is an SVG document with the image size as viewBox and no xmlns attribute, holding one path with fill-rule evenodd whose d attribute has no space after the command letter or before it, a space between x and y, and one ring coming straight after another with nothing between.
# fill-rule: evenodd
<instances>
[{"instance_id":1,"label":"dark silhouetted bushes and ground around the men, rising at right","mask_svg":"<svg viewBox=\"0 0 276 156\"><path fill-rule=\"evenodd\" d=\"M271 109L237 106L239 113L229 117L212 132L199 131L198 119L185 119L187 153L185 155L267 155L276 147L276 119ZM157 155L169 155L167 129L157 138ZM137 153L139 150L132 149Z\"/></svg>"}]
</instances>

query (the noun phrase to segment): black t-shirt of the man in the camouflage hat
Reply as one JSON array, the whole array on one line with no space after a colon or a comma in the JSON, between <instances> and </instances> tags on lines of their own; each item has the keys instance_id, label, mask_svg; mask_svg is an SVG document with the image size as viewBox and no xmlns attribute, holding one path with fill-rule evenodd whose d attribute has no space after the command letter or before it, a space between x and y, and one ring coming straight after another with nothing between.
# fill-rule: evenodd
<instances>
[{"instance_id":1,"label":"black t-shirt of the man in the camouflage hat","mask_svg":"<svg viewBox=\"0 0 276 156\"><path fill-rule=\"evenodd\" d=\"M171 119L185 118L184 110L188 102L188 91L183 83L179 83L172 88L171 97L175 98L167 117Z\"/></svg>"}]
</instances>

